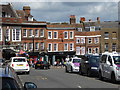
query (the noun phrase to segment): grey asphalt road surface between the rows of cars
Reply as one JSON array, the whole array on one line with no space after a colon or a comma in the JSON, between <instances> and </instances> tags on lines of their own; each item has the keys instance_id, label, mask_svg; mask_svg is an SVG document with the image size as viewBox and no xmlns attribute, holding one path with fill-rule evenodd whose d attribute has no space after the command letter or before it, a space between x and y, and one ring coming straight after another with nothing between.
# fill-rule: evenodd
<instances>
[{"instance_id":1,"label":"grey asphalt road surface between the rows of cars","mask_svg":"<svg viewBox=\"0 0 120 90\"><path fill-rule=\"evenodd\" d=\"M108 80L100 81L97 77L66 73L65 68L40 70L31 68L29 75L19 75L22 83L34 82L38 88L118 88L120 83L112 84Z\"/></svg>"}]
</instances>

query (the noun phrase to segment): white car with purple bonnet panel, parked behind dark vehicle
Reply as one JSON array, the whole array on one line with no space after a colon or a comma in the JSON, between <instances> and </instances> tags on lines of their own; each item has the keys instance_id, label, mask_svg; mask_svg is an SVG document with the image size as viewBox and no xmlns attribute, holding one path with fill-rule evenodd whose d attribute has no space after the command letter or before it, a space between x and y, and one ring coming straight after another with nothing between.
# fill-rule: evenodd
<instances>
[{"instance_id":1,"label":"white car with purple bonnet panel, parked behind dark vehicle","mask_svg":"<svg viewBox=\"0 0 120 90\"><path fill-rule=\"evenodd\" d=\"M68 62L66 62L66 72L79 72L81 58L71 58Z\"/></svg>"}]
</instances>

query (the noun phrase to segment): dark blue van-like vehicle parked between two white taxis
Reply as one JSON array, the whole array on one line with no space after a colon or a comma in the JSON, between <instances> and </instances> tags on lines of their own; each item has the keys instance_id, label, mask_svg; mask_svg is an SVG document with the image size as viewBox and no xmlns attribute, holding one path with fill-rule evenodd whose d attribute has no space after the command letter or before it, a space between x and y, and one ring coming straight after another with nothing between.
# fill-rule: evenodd
<instances>
[{"instance_id":1,"label":"dark blue van-like vehicle parked between two white taxis","mask_svg":"<svg viewBox=\"0 0 120 90\"><path fill-rule=\"evenodd\" d=\"M79 74L87 76L98 75L100 55L85 55L81 59Z\"/></svg>"}]
</instances>

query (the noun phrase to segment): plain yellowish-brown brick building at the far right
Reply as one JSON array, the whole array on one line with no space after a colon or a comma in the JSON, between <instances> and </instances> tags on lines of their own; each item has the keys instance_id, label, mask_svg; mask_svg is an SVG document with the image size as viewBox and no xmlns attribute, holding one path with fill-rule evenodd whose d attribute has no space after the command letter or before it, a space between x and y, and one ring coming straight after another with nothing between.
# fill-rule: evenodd
<instances>
[{"instance_id":1,"label":"plain yellowish-brown brick building at the far right","mask_svg":"<svg viewBox=\"0 0 120 90\"><path fill-rule=\"evenodd\" d=\"M120 44L120 30L118 28L118 22L102 22L101 23L101 51L104 52L114 52L119 50Z\"/></svg>"}]
</instances>

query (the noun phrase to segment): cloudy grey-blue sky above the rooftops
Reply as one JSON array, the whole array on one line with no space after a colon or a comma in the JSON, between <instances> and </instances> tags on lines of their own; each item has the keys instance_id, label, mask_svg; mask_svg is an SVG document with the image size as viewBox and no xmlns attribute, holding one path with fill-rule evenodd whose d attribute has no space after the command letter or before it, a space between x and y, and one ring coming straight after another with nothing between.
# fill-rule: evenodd
<instances>
[{"instance_id":1,"label":"cloudy grey-blue sky above the rooftops","mask_svg":"<svg viewBox=\"0 0 120 90\"><path fill-rule=\"evenodd\" d=\"M86 20L101 21L118 20L117 2L13 2L13 7L22 10L23 6L31 7L31 14L38 21L69 22L69 16L75 15L77 22L80 17Z\"/></svg>"}]
</instances>

